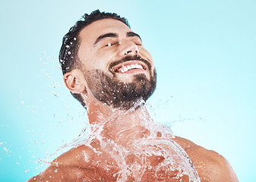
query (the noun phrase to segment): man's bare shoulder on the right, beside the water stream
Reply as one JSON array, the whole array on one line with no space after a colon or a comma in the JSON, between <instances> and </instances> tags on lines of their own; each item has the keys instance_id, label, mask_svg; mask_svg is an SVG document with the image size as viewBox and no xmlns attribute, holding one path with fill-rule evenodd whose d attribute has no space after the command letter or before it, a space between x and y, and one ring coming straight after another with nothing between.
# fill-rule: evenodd
<instances>
[{"instance_id":1,"label":"man's bare shoulder on the right, beside the water stream","mask_svg":"<svg viewBox=\"0 0 256 182\"><path fill-rule=\"evenodd\" d=\"M219 153L204 149L204 147L198 146L182 137L175 137L172 140L175 140L176 143L179 143L185 149L185 152L187 152L197 169L202 182L239 181L229 162Z\"/></svg>"}]
</instances>

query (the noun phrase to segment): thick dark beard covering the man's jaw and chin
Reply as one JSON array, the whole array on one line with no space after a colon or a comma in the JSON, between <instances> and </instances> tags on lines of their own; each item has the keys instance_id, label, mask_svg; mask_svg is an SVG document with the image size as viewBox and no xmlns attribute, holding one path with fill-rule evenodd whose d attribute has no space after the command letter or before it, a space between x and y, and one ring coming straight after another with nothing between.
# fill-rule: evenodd
<instances>
[{"instance_id":1,"label":"thick dark beard covering the man's jaw and chin","mask_svg":"<svg viewBox=\"0 0 256 182\"><path fill-rule=\"evenodd\" d=\"M112 108L122 110L133 108L141 100L146 102L156 89L155 68L153 68L153 73L150 69L149 79L145 74L136 74L131 83L122 82L115 77L115 73L109 75L97 69L85 71L84 77L96 99Z\"/></svg>"}]
</instances>

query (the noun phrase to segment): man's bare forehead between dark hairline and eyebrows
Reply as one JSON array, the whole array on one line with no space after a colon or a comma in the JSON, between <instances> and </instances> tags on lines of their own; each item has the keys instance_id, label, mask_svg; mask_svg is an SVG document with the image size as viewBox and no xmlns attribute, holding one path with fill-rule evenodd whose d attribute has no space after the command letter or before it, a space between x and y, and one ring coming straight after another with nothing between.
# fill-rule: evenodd
<instances>
[{"instance_id":1,"label":"man's bare forehead between dark hairline and eyebrows","mask_svg":"<svg viewBox=\"0 0 256 182\"><path fill-rule=\"evenodd\" d=\"M131 29L122 21L114 19L96 20L92 24L84 27L79 33L79 38L87 41L95 41L99 36L105 33L117 33L122 35L131 32Z\"/></svg>"}]
</instances>

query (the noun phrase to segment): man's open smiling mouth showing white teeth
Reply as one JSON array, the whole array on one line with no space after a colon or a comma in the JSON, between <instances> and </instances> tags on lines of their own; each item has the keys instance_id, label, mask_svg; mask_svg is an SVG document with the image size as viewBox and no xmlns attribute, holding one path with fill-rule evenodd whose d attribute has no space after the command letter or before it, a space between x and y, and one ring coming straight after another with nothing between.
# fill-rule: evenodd
<instances>
[{"instance_id":1,"label":"man's open smiling mouth showing white teeth","mask_svg":"<svg viewBox=\"0 0 256 182\"><path fill-rule=\"evenodd\" d=\"M147 70L147 65L142 61L125 61L111 68L111 71L119 74L132 74Z\"/></svg>"}]
</instances>

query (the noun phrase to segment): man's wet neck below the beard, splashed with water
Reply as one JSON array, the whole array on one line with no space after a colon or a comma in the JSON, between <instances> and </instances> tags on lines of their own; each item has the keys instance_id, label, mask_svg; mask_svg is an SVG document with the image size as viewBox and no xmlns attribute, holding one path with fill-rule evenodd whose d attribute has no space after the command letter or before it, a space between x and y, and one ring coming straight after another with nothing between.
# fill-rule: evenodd
<instances>
[{"instance_id":1,"label":"man's wet neck below the beard, splashed with water","mask_svg":"<svg viewBox=\"0 0 256 182\"><path fill-rule=\"evenodd\" d=\"M152 124L152 120L144 104L137 104L127 111L113 109L93 99L87 106L87 115L92 130L100 128L100 135L103 138L114 140L123 146L150 135L148 126Z\"/></svg>"}]
</instances>

